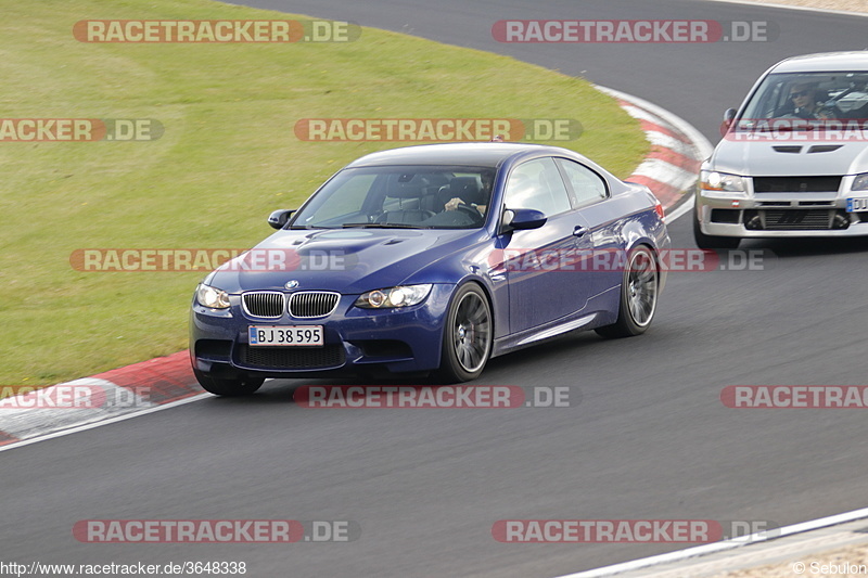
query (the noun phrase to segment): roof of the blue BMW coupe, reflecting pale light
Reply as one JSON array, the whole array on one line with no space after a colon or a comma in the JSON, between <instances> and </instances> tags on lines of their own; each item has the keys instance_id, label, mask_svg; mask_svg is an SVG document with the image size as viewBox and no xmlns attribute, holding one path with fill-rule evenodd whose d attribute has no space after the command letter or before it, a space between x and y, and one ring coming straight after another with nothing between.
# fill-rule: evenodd
<instances>
[{"instance_id":1,"label":"roof of the blue BMW coupe, reflecting pale light","mask_svg":"<svg viewBox=\"0 0 868 578\"><path fill-rule=\"evenodd\" d=\"M573 151L559 146L512 142L461 142L420 144L371 153L354 160L347 168L383 165L457 165L494 168L513 156L533 153L584 158Z\"/></svg>"}]
</instances>

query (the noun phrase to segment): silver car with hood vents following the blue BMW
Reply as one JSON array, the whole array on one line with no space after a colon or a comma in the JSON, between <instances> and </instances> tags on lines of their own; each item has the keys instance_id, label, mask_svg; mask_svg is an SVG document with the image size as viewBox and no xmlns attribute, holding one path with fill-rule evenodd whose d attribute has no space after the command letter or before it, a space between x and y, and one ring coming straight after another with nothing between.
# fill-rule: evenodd
<instances>
[{"instance_id":1,"label":"silver car with hood vents following the blue BMW","mask_svg":"<svg viewBox=\"0 0 868 578\"><path fill-rule=\"evenodd\" d=\"M868 51L795 56L724 114L702 165L693 234L741 239L868 235Z\"/></svg>"}]
</instances>

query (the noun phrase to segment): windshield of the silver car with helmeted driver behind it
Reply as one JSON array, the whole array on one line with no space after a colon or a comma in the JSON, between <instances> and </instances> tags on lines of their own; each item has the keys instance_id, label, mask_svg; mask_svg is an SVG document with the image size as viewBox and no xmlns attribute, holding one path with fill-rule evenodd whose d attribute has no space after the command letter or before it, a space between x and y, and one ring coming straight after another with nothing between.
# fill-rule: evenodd
<instances>
[{"instance_id":1,"label":"windshield of the silver car with helmeted driver behind it","mask_svg":"<svg viewBox=\"0 0 868 578\"><path fill-rule=\"evenodd\" d=\"M776 129L786 125L791 130L807 130L810 125L830 120L838 124L865 120L868 118L867 84L866 72L768 75L736 123L736 130L755 130L768 125L769 119L796 119L774 123Z\"/></svg>"}]
</instances>

